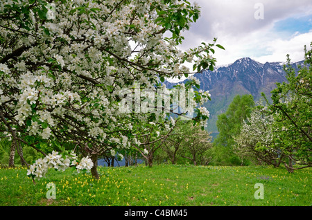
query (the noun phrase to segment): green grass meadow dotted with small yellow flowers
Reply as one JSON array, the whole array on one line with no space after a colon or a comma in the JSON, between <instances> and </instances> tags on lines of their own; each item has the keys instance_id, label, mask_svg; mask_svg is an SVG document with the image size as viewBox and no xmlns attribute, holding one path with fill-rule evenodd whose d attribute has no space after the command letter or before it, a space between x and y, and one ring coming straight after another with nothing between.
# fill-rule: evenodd
<instances>
[{"instance_id":1,"label":"green grass meadow dotted with small yellow flowers","mask_svg":"<svg viewBox=\"0 0 312 220\"><path fill-rule=\"evenodd\" d=\"M50 169L33 184L26 168L0 169L0 205L312 205L312 169L155 165L98 167L101 178ZM47 183L56 199L46 199ZM263 183L264 199L254 184Z\"/></svg>"}]
</instances>

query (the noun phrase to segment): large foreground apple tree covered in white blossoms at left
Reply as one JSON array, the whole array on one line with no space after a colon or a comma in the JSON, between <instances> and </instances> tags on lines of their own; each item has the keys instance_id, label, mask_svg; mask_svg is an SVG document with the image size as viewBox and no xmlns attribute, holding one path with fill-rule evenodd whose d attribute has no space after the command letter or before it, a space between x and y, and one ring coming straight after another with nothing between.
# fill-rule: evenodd
<instances>
[{"instance_id":1,"label":"large foreground apple tree covered in white blossoms at left","mask_svg":"<svg viewBox=\"0 0 312 220\"><path fill-rule=\"evenodd\" d=\"M209 54L214 46L224 49L216 39L178 48L199 16L199 6L177 0L1 1L1 132L10 134L21 158L21 143L44 156L39 143L55 149L71 143L92 160L86 167L98 178L98 155L140 145L133 125L166 116L121 113L121 89L135 82L155 89L166 77L188 76L187 62L196 72L214 68ZM198 108L195 119L207 120Z\"/></svg>"}]
</instances>

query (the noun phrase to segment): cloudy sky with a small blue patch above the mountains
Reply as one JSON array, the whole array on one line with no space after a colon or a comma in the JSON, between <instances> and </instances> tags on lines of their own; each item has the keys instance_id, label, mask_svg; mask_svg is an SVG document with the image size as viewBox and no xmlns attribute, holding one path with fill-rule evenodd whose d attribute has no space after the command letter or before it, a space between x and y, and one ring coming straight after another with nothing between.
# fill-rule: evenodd
<instances>
[{"instance_id":1,"label":"cloudy sky with a small blue patch above the mountains","mask_svg":"<svg viewBox=\"0 0 312 220\"><path fill-rule=\"evenodd\" d=\"M191 0L193 3L194 0ZM311 0L196 0L201 16L184 33L182 50L201 42L217 43L217 66L241 57L258 62L292 62L304 59L304 45L312 42Z\"/></svg>"}]
</instances>

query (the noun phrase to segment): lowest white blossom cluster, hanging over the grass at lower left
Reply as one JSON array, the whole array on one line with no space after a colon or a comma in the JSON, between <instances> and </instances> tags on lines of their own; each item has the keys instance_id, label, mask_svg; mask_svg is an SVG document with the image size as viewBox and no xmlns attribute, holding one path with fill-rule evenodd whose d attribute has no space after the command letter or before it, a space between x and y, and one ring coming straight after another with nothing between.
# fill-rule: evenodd
<instances>
[{"instance_id":1,"label":"lowest white blossom cluster, hanging over the grass at lower left","mask_svg":"<svg viewBox=\"0 0 312 220\"><path fill-rule=\"evenodd\" d=\"M62 156L59 152L53 151L51 154L48 154L46 157L39 158L33 165L27 169L27 176L33 176L34 178L42 178L45 177L46 172L49 168L58 169L60 171L64 171L70 166L76 166L77 172L83 169L91 169L93 167L92 160L87 156L82 158L80 163L78 162L78 158L74 152L70 152L70 154Z\"/></svg>"}]
</instances>

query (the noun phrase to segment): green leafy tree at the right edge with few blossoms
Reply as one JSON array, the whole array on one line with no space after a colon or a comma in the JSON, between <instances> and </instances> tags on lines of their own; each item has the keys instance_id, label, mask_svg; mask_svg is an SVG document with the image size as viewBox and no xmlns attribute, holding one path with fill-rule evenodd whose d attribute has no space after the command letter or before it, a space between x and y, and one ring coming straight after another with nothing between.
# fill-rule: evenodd
<instances>
[{"instance_id":1,"label":"green leafy tree at the right edge with few blossoms","mask_svg":"<svg viewBox=\"0 0 312 220\"><path fill-rule=\"evenodd\" d=\"M297 66L297 73L287 55L287 82L277 83L271 91L272 103L266 99L268 113L275 119L274 142L279 145L288 172L312 166L312 48L307 51L304 46L304 52L304 64Z\"/></svg>"}]
</instances>

